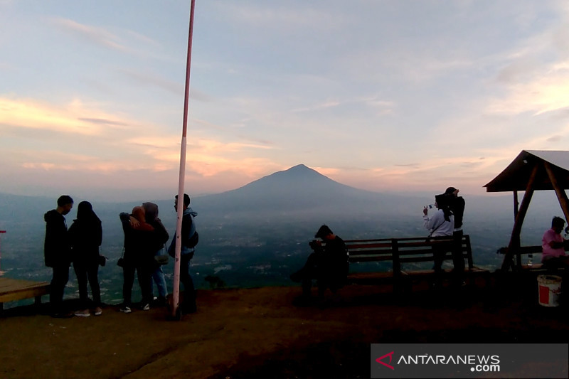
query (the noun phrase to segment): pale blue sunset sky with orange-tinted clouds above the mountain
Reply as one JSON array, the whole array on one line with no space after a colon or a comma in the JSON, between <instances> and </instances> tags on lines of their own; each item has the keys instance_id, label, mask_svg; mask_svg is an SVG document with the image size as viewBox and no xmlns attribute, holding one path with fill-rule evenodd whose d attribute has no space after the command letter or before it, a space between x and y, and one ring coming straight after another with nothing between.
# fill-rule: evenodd
<instances>
[{"instance_id":1,"label":"pale blue sunset sky with orange-tinted clouds above the mountain","mask_svg":"<svg viewBox=\"0 0 569 379\"><path fill-rule=\"evenodd\" d=\"M0 192L178 191L190 1L0 0ZM485 193L569 136L569 4L196 0L186 192Z\"/></svg>"}]
</instances>

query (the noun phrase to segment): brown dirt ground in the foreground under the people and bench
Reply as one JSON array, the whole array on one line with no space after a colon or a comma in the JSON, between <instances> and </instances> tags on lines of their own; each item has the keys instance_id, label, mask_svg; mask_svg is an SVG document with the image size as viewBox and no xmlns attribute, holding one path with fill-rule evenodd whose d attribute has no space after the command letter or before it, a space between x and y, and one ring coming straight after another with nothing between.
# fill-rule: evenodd
<instances>
[{"instance_id":1,"label":"brown dirt ground in the foreground under the people and bench","mask_svg":"<svg viewBox=\"0 0 569 379\"><path fill-rule=\"evenodd\" d=\"M0 378L369 378L370 343L568 343L567 310L520 291L349 286L299 306L298 287L201 290L181 321L23 306L0 317Z\"/></svg>"}]
</instances>

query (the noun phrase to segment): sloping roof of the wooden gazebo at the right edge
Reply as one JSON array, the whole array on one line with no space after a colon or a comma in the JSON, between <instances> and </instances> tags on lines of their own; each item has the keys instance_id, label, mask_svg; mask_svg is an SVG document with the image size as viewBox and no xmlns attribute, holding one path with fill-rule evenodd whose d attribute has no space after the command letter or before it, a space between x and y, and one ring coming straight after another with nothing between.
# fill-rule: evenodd
<instances>
[{"instance_id":1,"label":"sloping roof of the wooden gazebo at the right edge","mask_svg":"<svg viewBox=\"0 0 569 379\"><path fill-rule=\"evenodd\" d=\"M531 171L538 166L535 191L553 190L543 162L551 164L563 189L569 188L569 151L522 150L496 178L486 184L486 192L526 191Z\"/></svg>"}]
</instances>

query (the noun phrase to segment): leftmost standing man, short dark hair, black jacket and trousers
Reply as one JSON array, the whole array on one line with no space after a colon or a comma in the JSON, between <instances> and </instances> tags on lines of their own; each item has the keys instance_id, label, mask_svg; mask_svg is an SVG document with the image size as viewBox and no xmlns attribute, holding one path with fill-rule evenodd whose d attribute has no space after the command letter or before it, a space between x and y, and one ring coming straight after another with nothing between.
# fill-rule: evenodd
<instances>
[{"instance_id":1,"label":"leftmost standing man, short dark hair, black jacket and trousers","mask_svg":"<svg viewBox=\"0 0 569 379\"><path fill-rule=\"evenodd\" d=\"M46 221L46 240L43 243L43 256L47 267L53 269L50 283L49 301L51 316L68 317L63 309L65 284L69 281L71 249L68 239L65 215L73 208L73 198L63 195L58 198L58 207L43 215Z\"/></svg>"}]
</instances>

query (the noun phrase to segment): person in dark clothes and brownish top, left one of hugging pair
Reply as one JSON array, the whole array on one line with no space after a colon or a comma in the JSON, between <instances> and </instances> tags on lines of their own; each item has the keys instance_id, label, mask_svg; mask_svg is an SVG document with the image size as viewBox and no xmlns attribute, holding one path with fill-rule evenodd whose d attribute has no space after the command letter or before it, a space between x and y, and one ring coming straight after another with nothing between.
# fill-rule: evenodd
<instances>
[{"instance_id":1,"label":"person in dark clothes and brownish top, left one of hugging pair","mask_svg":"<svg viewBox=\"0 0 569 379\"><path fill-rule=\"evenodd\" d=\"M137 273L140 290L142 292L141 309L148 311L152 301L152 271L154 270L154 252L159 247L159 238L154 233L154 227L146 222L144 208L132 208L132 213L120 213L119 218L124 232L123 255L123 303L120 311L132 311L132 284L134 272ZM164 242L162 242L164 243Z\"/></svg>"}]
</instances>

